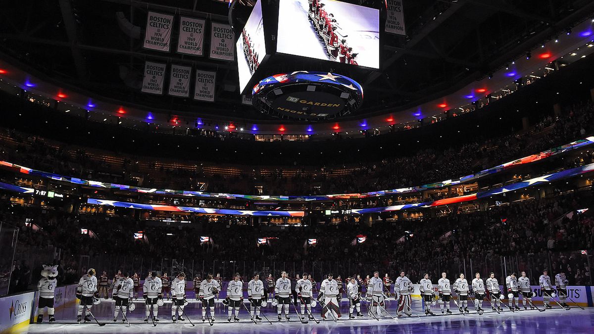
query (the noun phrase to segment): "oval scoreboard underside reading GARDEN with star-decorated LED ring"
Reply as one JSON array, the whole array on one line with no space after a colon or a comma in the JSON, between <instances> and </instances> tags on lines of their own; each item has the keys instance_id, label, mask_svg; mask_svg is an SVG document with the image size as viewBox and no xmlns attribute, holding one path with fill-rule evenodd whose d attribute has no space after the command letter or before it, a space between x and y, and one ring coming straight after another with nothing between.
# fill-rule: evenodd
<instances>
[{"instance_id":1,"label":"oval scoreboard underside reading GARDEN with star-decorated LED ring","mask_svg":"<svg viewBox=\"0 0 594 334\"><path fill-rule=\"evenodd\" d=\"M252 98L264 114L317 121L356 111L363 101L363 89L344 75L295 71L260 80L252 89Z\"/></svg>"}]
</instances>

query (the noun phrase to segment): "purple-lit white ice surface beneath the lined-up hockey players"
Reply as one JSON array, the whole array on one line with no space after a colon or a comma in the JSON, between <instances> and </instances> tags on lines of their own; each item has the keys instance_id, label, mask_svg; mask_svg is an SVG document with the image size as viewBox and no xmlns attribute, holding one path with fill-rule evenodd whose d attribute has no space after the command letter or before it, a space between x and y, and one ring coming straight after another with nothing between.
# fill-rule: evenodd
<instances>
[{"instance_id":1,"label":"purple-lit white ice surface beneath the lined-up hockey players","mask_svg":"<svg viewBox=\"0 0 594 334\"><path fill-rule=\"evenodd\" d=\"M367 310L362 305L362 313L365 314L364 319L348 320L348 303L343 299L341 303L341 311L343 316L338 322L333 320L320 320L320 306L314 308L314 316L320 320L320 324L309 321L307 324L299 322L295 314L295 310L291 307L290 321L277 321L276 308L270 306L263 308L264 314L270 319L273 324L266 322L263 317L263 322L254 324L249 319L249 315L244 308L239 311L239 323L227 322L227 309L223 309L223 304L217 302L216 304L216 322L213 326L208 324L208 321L203 323L200 303L197 301L189 301L189 305L185 308L185 313L195 327L189 324L188 320L185 323L172 323L171 321L171 304L167 301L163 307L159 308L159 323L156 327L149 321L144 323L144 304L141 300L136 303L136 310L128 313L131 327L127 324L113 323L113 306L112 300L103 300L101 304L94 305L91 311L97 317L99 322L105 322L105 326L98 326L95 322L87 324L76 323L76 306L70 305L67 308L62 308L56 311L56 323L48 324L31 324L23 330L23 333L345 333L345 334L364 334L364 333L426 333L426 332L441 332L441 333L518 333L518 334L532 334L532 333L594 333L594 308L586 307L581 310L579 307L571 307L570 310L563 310L558 305L552 304L554 308L539 312L536 310L517 311L512 313L505 308L501 314L490 311L487 301L484 303L485 313L481 316L471 310L470 314L466 316L457 312L456 305L452 304L450 310L454 314L450 316L442 316L439 307L432 307L436 316L425 316L422 311L421 300L413 300L413 312L418 314L418 317L403 317L398 320L393 320L390 317L385 317L381 320L374 318L368 319ZM249 307L249 304L245 304ZM542 305L538 305L542 307ZM392 316L396 316L396 301L387 301L387 311ZM470 309L470 308L469 308ZM346 318L346 319L345 319ZM45 321L48 317L45 316ZM121 319L121 316L120 316Z\"/></svg>"}]
</instances>

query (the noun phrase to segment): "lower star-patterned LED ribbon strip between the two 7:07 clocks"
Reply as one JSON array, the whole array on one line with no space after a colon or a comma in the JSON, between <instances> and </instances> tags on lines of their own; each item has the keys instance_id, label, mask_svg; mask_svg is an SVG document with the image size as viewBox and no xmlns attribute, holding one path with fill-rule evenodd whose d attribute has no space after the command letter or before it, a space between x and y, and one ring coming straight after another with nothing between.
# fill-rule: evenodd
<instances>
[{"instance_id":1,"label":"lower star-patterned LED ribbon strip between the two 7:07 clocks","mask_svg":"<svg viewBox=\"0 0 594 334\"><path fill-rule=\"evenodd\" d=\"M2 185L0 184L0 188ZM99 200L96 198L87 198L88 204L126 207L128 209L154 210L168 212L193 212L207 213L211 215L236 215L236 216L283 216L283 217L304 217L303 211L254 211L254 210L231 210L231 209L212 209L208 207L188 207L188 206L170 206L157 204L140 204L121 201Z\"/></svg>"}]
</instances>

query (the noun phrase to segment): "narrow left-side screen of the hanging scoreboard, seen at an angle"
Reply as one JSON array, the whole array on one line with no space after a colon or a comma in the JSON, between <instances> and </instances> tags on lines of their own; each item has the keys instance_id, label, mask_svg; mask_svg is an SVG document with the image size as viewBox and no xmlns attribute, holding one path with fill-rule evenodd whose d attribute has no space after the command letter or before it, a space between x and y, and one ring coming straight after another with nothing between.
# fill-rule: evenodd
<instances>
[{"instance_id":1,"label":"narrow left-side screen of the hanging scoreboard, seen at an angle","mask_svg":"<svg viewBox=\"0 0 594 334\"><path fill-rule=\"evenodd\" d=\"M239 90L242 91L247 86L249 79L254 75L255 70L260 66L264 56L266 56L261 1L256 2L254 5L236 46Z\"/></svg>"}]
</instances>

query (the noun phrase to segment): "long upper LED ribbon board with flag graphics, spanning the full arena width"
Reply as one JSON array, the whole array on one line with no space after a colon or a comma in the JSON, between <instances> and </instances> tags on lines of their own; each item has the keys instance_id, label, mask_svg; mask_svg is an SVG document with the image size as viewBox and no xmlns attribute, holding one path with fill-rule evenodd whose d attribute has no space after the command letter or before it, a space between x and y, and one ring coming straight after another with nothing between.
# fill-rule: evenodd
<instances>
[{"instance_id":1,"label":"long upper LED ribbon board with flag graphics, spanning the full arena width","mask_svg":"<svg viewBox=\"0 0 594 334\"><path fill-rule=\"evenodd\" d=\"M501 165L498 165L498 166L495 166L495 167L492 167L489 169L485 169L484 171L478 172L476 174L467 175L466 177L462 177L459 179L450 179L447 181L435 182L435 183L431 183L431 184L419 185L419 186L409 187L409 188L372 191L371 193L333 194L333 195L319 195L319 196L276 196L276 195L256 196L256 195L227 194L227 193L207 193L204 191L190 191L190 190L143 188L143 187L135 187L133 185L115 184L115 183L109 183L109 182L90 181L90 180L74 178L74 177L66 177L64 175L38 171L36 169L28 168L25 166L17 165L15 163L1 161L1 160L0 160L0 166L4 166L6 168L13 169L17 172L35 176L35 177L48 178L48 179L53 179L55 181L61 181L61 182L69 182L71 184L78 184L78 185L83 185L86 187L125 190L125 191L131 191L133 193L173 195L173 196L185 196L185 197L222 198L222 199L229 199L229 200L242 199L242 200L254 200L254 201L321 201L321 200L333 200L333 199L357 199L357 198L367 198L367 197L380 197L380 196L386 196L386 195L392 195L392 194L415 193L417 191L448 187L449 185L457 185L457 184L462 184L464 182L475 181L476 179L485 177L486 175L492 175L492 174L495 174L498 172L505 171L510 168L514 168L516 166L526 165L528 163L546 159L548 157L552 157L552 156L555 156L555 155L558 155L561 153L565 153L570 150L579 149L580 147L585 147L585 146L588 146L591 144L594 144L594 137L587 137L584 139L573 141L572 143L565 144L563 146L554 147L553 149L549 149L544 152L537 153L535 155L530 155L530 156L526 156L526 157L523 157L523 158L520 158L517 160L506 162ZM33 191L33 189L31 189L31 192L32 191Z\"/></svg>"}]
</instances>

